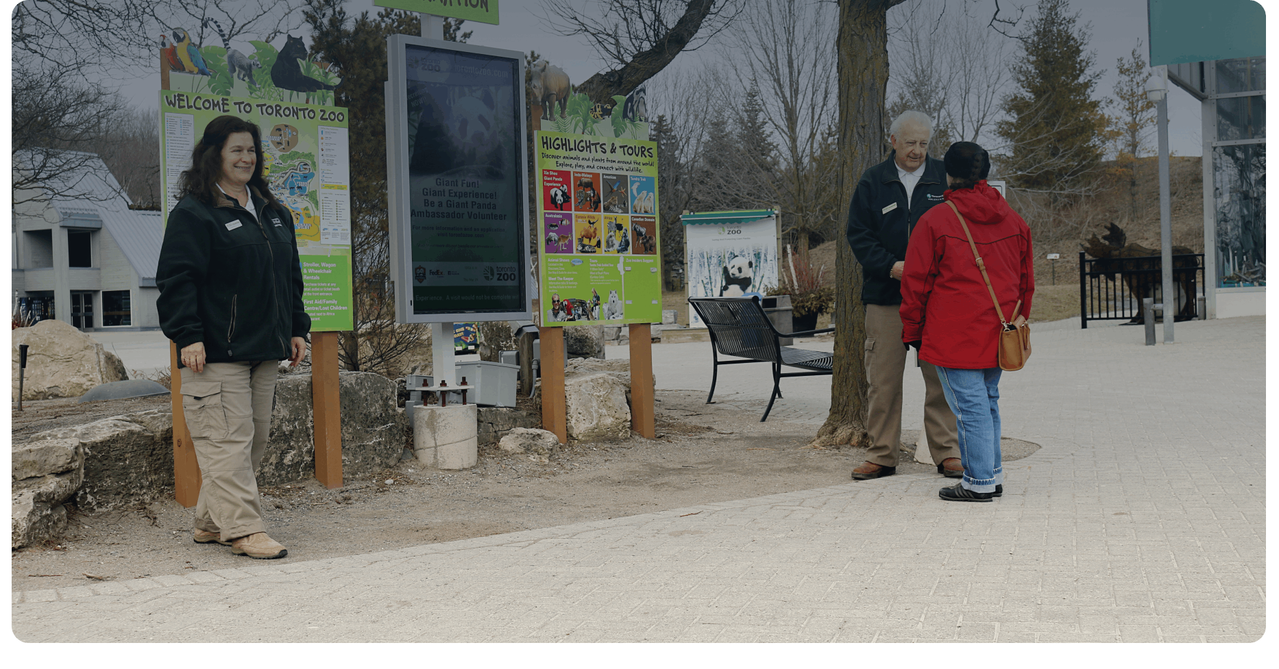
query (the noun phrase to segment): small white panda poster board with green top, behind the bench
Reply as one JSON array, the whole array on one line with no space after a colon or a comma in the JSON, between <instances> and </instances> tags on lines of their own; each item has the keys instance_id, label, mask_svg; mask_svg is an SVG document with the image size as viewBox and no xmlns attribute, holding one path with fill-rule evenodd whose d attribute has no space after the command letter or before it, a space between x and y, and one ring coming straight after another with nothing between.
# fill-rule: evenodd
<instances>
[{"instance_id":1,"label":"small white panda poster board with green top, behind the bench","mask_svg":"<svg viewBox=\"0 0 1279 669\"><path fill-rule=\"evenodd\" d=\"M771 209L686 213L689 297L762 297L778 285L778 220ZM689 327L702 327L688 308Z\"/></svg>"}]
</instances>

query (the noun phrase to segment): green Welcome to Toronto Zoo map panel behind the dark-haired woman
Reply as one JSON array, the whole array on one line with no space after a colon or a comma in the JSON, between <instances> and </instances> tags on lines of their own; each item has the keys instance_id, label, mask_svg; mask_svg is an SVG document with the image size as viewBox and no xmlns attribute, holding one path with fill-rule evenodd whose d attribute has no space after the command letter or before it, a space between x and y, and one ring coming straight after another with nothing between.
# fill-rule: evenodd
<instances>
[{"instance_id":1,"label":"green Welcome to Toronto Zoo map panel behind the dark-haired woman","mask_svg":"<svg viewBox=\"0 0 1279 669\"><path fill-rule=\"evenodd\" d=\"M178 180L191 167L196 142L208 121L230 114L256 123L271 193L293 213L298 240L302 301L312 332L350 331L350 160L347 110L321 105L160 92L160 174L162 216L178 204Z\"/></svg>"}]
</instances>

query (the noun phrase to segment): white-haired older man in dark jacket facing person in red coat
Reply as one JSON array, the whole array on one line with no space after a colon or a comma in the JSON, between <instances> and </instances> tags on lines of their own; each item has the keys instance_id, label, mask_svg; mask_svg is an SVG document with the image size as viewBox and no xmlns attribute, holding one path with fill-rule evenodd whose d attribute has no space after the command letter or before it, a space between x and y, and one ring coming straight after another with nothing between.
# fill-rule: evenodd
<instances>
[{"instance_id":1,"label":"white-haired older man in dark jacket facing person in red coat","mask_svg":"<svg viewBox=\"0 0 1279 669\"><path fill-rule=\"evenodd\" d=\"M889 158L862 175L848 208L848 244L862 266L862 304L866 305L866 378L870 397L866 430L871 446L853 479L897 474L902 446L902 378L907 349L902 346L902 269L916 221L943 202L946 171L929 157L932 121L918 111L893 120ZM923 372L923 430L938 472L963 476L955 416L946 405L938 370Z\"/></svg>"}]
</instances>

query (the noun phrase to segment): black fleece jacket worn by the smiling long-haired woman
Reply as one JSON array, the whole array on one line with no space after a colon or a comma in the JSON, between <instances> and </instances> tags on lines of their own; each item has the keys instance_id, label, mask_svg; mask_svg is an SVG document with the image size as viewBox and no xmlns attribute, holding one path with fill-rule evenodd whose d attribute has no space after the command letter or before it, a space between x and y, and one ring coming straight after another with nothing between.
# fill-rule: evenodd
<instances>
[{"instance_id":1,"label":"black fleece jacket worn by the smiling long-haired woman","mask_svg":"<svg viewBox=\"0 0 1279 669\"><path fill-rule=\"evenodd\" d=\"M160 329L179 349L203 342L208 363L284 360L311 331L293 216L251 197L261 221L220 193L214 206L187 195L164 231Z\"/></svg>"}]
</instances>

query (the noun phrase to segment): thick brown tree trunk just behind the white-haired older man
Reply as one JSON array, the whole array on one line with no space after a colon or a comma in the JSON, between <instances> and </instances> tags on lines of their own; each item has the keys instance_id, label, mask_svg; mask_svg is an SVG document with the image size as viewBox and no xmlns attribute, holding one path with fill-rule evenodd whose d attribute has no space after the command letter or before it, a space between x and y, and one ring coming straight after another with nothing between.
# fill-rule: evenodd
<instances>
[{"instance_id":1,"label":"thick brown tree trunk just behind the white-haired older man","mask_svg":"<svg viewBox=\"0 0 1279 669\"><path fill-rule=\"evenodd\" d=\"M902 0L839 0L839 154L842 202L866 169L883 160L884 96L888 87L888 9ZM867 446L866 306L862 268L840 240L835 253L835 368L830 415L812 446Z\"/></svg>"}]
</instances>

